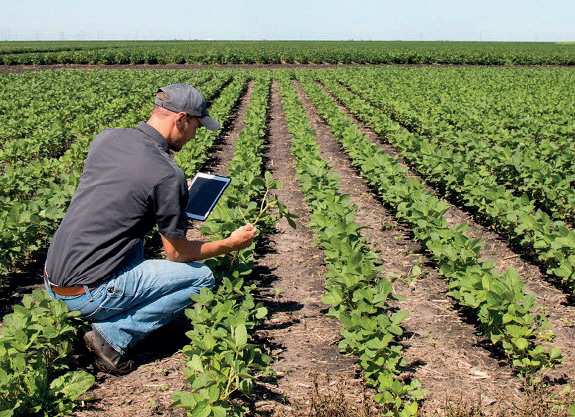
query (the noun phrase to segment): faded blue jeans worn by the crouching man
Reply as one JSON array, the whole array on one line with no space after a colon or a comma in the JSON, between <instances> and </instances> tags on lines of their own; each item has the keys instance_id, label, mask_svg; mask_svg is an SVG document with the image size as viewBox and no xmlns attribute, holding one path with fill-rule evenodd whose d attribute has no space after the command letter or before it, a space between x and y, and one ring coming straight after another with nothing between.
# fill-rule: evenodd
<instances>
[{"instance_id":1,"label":"faded blue jeans worn by the crouching man","mask_svg":"<svg viewBox=\"0 0 575 417\"><path fill-rule=\"evenodd\" d=\"M189 307L191 294L213 285L212 271L204 264L146 260L141 242L110 279L91 291L84 287L84 294L74 296L54 294L49 287L47 291L70 310L80 311L124 355L148 333Z\"/></svg>"}]
</instances>

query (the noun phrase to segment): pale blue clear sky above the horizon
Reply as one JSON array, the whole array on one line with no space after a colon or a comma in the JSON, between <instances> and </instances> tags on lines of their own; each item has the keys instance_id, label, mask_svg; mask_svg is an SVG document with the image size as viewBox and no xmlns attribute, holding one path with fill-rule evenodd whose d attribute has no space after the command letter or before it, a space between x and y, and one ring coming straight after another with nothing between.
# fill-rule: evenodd
<instances>
[{"instance_id":1,"label":"pale blue clear sky above the horizon","mask_svg":"<svg viewBox=\"0 0 575 417\"><path fill-rule=\"evenodd\" d=\"M575 41L573 0L0 0L0 40Z\"/></svg>"}]
</instances>

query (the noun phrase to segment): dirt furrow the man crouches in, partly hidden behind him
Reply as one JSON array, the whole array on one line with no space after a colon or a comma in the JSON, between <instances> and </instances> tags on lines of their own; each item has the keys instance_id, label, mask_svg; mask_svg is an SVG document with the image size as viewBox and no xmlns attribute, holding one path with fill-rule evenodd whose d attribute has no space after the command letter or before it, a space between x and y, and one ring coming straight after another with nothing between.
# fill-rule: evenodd
<instances>
[{"instance_id":1,"label":"dirt furrow the man crouches in, partly hidden behind him","mask_svg":"<svg viewBox=\"0 0 575 417\"><path fill-rule=\"evenodd\" d=\"M231 128L210 149L210 158L203 170L225 174L233 156L233 144L243 128L253 82L248 85L240 105L232 116ZM193 140L187 146L193 146ZM201 239L196 222L188 230L188 237ZM138 368L128 375L111 376L96 373L96 385L87 393L92 398L74 415L77 417L118 416L185 417L183 409L170 408L173 391L189 388L182 372L185 356L180 351L188 343L185 332L189 322L178 320L148 336L134 349ZM96 372L96 370L94 370Z\"/></svg>"}]
</instances>

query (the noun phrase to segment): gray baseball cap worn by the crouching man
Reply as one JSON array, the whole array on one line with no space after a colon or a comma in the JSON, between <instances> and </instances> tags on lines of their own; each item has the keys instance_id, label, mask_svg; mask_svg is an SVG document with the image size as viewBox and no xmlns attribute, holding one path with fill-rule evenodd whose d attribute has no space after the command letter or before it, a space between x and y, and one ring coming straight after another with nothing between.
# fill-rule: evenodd
<instances>
[{"instance_id":1,"label":"gray baseball cap worn by the crouching man","mask_svg":"<svg viewBox=\"0 0 575 417\"><path fill-rule=\"evenodd\" d=\"M220 123L208 115L204 96L194 87L185 83L170 84L158 89L166 94L165 100L156 97L157 106L179 113L185 112L190 116L197 117L202 126L209 130L218 130Z\"/></svg>"}]
</instances>

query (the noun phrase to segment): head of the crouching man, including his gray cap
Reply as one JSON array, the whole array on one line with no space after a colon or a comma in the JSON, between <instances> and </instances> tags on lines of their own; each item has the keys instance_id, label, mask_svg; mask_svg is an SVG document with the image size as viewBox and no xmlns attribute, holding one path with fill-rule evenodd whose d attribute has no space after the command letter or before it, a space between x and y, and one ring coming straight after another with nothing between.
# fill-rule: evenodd
<instances>
[{"instance_id":1,"label":"head of the crouching man, including his gray cap","mask_svg":"<svg viewBox=\"0 0 575 417\"><path fill-rule=\"evenodd\" d=\"M208 115L202 94L188 84L170 84L158 89L152 116L148 124L168 141L172 150L179 151L204 126L217 130L220 124Z\"/></svg>"}]
</instances>

